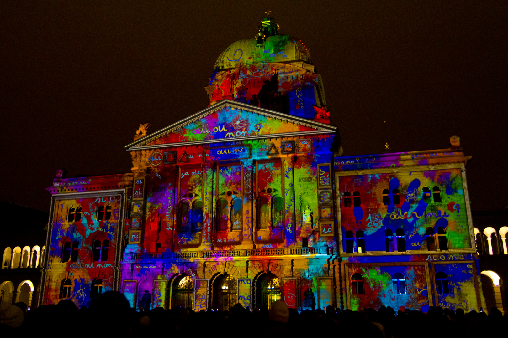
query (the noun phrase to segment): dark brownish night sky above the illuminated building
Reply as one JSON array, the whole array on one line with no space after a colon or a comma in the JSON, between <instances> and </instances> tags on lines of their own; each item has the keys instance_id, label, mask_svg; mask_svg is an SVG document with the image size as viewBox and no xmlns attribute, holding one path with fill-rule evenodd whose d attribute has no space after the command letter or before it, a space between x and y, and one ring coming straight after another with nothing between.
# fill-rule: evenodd
<instances>
[{"instance_id":1,"label":"dark brownish night sky above the illuminated building","mask_svg":"<svg viewBox=\"0 0 508 338\"><path fill-rule=\"evenodd\" d=\"M0 3L0 199L48 210L58 168L130 172L123 145L204 109L218 55L267 9L310 47L344 155L461 137L471 206L506 191L508 2Z\"/></svg>"}]
</instances>

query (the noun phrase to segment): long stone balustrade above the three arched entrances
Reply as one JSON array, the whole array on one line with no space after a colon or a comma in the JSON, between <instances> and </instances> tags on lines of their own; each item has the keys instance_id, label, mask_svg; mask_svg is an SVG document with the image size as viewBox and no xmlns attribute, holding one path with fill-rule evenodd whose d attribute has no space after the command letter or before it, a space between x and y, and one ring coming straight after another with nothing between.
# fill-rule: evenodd
<instances>
[{"instance_id":1,"label":"long stone balustrade above the three arched entrances","mask_svg":"<svg viewBox=\"0 0 508 338\"><path fill-rule=\"evenodd\" d=\"M220 257L259 257L259 256L287 256L287 255L313 255L327 254L326 248L267 248L251 250L207 250L183 252L145 252L131 253L129 260L141 259L194 259L194 258L220 258Z\"/></svg>"}]
</instances>

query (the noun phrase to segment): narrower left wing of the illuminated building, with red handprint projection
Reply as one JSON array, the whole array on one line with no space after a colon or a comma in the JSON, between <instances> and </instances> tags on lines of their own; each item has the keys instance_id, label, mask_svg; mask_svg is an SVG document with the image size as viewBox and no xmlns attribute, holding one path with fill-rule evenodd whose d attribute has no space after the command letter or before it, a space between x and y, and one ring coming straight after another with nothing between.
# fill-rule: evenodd
<instances>
[{"instance_id":1,"label":"narrower left wing of the illuminated building, with red handprint projection","mask_svg":"<svg viewBox=\"0 0 508 338\"><path fill-rule=\"evenodd\" d=\"M73 187L78 192L66 194L56 189L65 179L57 179L49 189L53 193L52 223L42 304L72 299L77 306L88 306L91 297L118 290L126 190L132 185L132 176L112 176L91 178L89 187ZM103 184L102 189L94 189L97 181Z\"/></svg>"}]
</instances>

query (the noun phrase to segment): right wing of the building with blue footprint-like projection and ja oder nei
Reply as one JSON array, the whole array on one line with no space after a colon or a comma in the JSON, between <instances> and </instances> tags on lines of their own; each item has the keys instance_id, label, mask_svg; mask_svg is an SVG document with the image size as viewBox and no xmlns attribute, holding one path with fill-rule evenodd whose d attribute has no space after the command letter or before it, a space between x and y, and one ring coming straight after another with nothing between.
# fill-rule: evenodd
<instances>
[{"instance_id":1,"label":"right wing of the building with blue footprint-like projection and ja oder nei","mask_svg":"<svg viewBox=\"0 0 508 338\"><path fill-rule=\"evenodd\" d=\"M465 161L460 149L335 159L345 307L483 306Z\"/></svg>"}]
</instances>

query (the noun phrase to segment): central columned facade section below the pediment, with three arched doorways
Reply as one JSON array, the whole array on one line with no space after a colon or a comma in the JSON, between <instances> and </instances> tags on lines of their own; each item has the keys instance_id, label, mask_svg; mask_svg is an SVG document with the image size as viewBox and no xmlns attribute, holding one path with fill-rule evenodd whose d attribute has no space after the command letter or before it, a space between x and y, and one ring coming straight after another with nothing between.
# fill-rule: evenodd
<instances>
[{"instance_id":1,"label":"central columned facade section below the pediment, with three arched doorways","mask_svg":"<svg viewBox=\"0 0 508 338\"><path fill-rule=\"evenodd\" d=\"M122 262L122 289L132 306L143 306L145 290L151 307L175 306L178 283L192 276L193 307L220 308L217 288L228 275L237 283L233 304L265 304L260 281L272 276L292 307L303 307L307 288L315 307L335 306L332 141L332 135L295 136L134 153L131 244ZM246 155L233 152L242 148ZM213 159L201 156L211 152ZM168 154L174 163L156 161ZM259 210L262 198L270 203ZM199 202L198 226L192 206Z\"/></svg>"}]
</instances>

